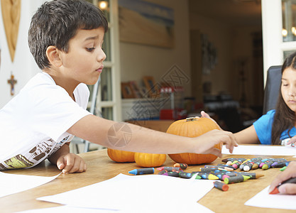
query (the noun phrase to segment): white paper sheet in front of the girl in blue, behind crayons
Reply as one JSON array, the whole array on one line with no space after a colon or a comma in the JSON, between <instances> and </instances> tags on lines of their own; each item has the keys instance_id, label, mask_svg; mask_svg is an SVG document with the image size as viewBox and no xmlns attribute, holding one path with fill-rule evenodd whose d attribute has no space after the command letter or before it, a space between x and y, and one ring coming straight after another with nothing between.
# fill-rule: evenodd
<instances>
[{"instance_id":1,"label":"white paper sheet in front of the girl in blue, behind crayons","mask_svg":"<svg viewBox=\"0 0 296 213\"><path fill-rule=\"evenodd\" d=\"M224 145L222 154L231 154ZM292 146L243 146L234 147L233 155L296 155Z\"/></svg>"}]
</instances>

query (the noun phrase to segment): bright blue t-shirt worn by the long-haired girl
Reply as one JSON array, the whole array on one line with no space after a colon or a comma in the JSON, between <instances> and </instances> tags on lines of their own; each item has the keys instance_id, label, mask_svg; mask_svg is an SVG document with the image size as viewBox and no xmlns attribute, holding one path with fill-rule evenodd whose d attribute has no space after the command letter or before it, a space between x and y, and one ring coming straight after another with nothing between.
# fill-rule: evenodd
<instances>
[{"instance_id":1,"label":"bright blue t-shirt worn by the long-haired girl","mask_svg":"<svg viewBox=\"0 0 296 213\"><path fill-rule=\"evenodd\" d=\"M261 116L260 119L253 123L257 136L259 138L260 143L262 144L271 144L271 130L273 128L273 117L275 116L275 109L272 109ZM290 131L290 136L288 135L288 130L286 129L280 135L280 141L285 141L287 138L291 138L296 135L296 129L293 127Z\"/></svg>"}]
</instances>

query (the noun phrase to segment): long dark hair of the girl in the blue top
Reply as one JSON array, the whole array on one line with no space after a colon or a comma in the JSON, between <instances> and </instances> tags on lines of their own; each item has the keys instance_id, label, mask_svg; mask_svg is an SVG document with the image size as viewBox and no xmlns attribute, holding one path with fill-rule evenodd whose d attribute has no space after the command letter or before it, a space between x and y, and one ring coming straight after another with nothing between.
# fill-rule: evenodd
<instances>
[{"instance_id":1,"label":"long dark hair of the girl in the blue top","mask_svg":"<svg viewBox=\"0 0 296 213\"><path fill-rule=\"evenodd\" d=\"M289 55L282 66L282 75L285 69L288 67L295 70L296 75L296 52ZM282 84L280 84L280 88L282 87ZM290 134L290 130L293 126L295 126L296 117L295 117L295 111L292 111L289 107L287 107L287 104L285 104L285 101L283 99L283 94L279 92L278 96L278 102L275 107L275 117L273 120L273 129L271 133L271 144L274 145L280 145L280 135L288 129L288 134Z\"/></svg>"}]
</instances>

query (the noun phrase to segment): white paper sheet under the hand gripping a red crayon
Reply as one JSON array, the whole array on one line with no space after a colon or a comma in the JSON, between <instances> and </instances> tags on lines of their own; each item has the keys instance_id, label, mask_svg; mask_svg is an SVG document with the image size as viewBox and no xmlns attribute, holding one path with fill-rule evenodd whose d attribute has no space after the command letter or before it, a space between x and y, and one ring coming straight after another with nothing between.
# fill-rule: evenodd
<instances>
[{"instance_id":1,"label":"white paper sheet under the hand gripping a red crayon","mask_svg":"<svg viewBox=\"0 0 296 213\"><path fill-rule=\"evenodd\" d=\"M296 195L269 195L268 188L269 186L245 202L245 205L252 207L296 210Z\"/></svg>"}]
</instances>

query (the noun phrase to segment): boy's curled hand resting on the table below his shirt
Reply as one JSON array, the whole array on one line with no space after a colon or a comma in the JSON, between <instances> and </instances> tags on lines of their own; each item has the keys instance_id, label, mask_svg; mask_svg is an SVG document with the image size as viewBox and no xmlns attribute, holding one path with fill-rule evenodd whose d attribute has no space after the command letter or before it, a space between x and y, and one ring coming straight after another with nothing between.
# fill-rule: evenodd
<instances>
[{"instance_id":1,"label":"boy's curled hand resting on the table below his shirt","mask_svg":"<svg viewBox=\"0 0 296 213\"><path fill-rule=\"evenodd\" d=\"M57 158L57 168L62 170L62 173L83 173L87 170L87 165L80 156L73 153L67 153Z\"/></svg>"}]
</instances>

